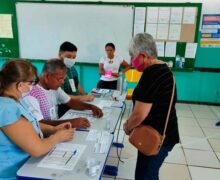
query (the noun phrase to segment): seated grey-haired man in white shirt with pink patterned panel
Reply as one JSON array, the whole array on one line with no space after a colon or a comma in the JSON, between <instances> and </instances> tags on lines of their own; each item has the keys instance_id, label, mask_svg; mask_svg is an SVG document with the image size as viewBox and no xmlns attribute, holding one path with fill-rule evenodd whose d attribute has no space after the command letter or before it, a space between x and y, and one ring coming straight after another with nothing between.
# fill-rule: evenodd
<instances>
[{"instance_id":1,"label":"seated grey-haired man in white shirt with pink patterned panel","mask_svg":"<svg viewBox=\"0 0 220 180\"><path fill-rule=\"evenodd\" d=\"M58 120L58 105L65 104L70 109L92 110L93 115L101 117L102 110L98 107L71 98L60 86L66 77L66 66L59 59L51 59L44 64L43 72L39 77L39 83L32 88L28 95L23 97L29 105L29 110L36 119L50 125L58 125L61 122L71 122L73 127L88 128L89 121L86 118L74 118L65 121Z\"/></svg>"}]
</instances>

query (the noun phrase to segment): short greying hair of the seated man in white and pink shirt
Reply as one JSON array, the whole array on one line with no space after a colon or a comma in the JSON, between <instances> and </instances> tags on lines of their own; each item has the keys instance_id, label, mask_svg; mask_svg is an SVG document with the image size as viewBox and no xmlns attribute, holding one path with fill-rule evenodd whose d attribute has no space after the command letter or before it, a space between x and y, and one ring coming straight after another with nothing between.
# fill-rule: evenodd
<instances>
[{"instance_id":1,"label":"short greying hair of the seated man in white and pink shirt","mask_svg":"<svg viewBox=\"0 0 220 180\"><path fill-rule=\"evenodd\" d=\"M43 73L56 73L59 70L66 71L66 65L60 59L50 59L48 60L43 67Z\"/></svg>"}]
</instances>

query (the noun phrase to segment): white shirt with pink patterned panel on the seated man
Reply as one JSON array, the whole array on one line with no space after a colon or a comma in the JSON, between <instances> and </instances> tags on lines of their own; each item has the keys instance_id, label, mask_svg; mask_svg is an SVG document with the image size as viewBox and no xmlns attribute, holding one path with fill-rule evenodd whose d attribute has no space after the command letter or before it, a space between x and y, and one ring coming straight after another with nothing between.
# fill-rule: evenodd
<instances>
[{"instance_id":1,"label":"white shirt with pink patterned panel on the seated man","mask_svg":"<svg viewBox=\"0 0 220 180\"><path fill-rule=\"evenodd\" d=\"M68 103L70 96L61 88L46 90L36 85L28 95L23 97L23 100L37 120L57 120L58 105Z\"/></svg>"}]
</instances>

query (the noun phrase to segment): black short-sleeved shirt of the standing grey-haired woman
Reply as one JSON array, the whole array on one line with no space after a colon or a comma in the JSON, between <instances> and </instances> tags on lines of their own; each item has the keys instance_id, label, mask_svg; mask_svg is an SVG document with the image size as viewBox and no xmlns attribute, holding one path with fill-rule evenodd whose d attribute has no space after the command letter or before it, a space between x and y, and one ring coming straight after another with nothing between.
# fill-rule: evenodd
<instances>
[{"instance_id":1,"label":"black short-sleeved shirt of the standing grey-haired woman","mask_svg":"<svg viewBox=\"0 0 220 180\"><path fill-rule=\"evenodd\" d=\"M166 64L155 64L144 70L132 96L134 104L136 101L152 104L152 108L142 124L152 126L161 135L166 122L172 88L173 75L170 69ZM179 142L176 99L175 91L164 145L174 145Z\"/></svg>"}]
</instances>

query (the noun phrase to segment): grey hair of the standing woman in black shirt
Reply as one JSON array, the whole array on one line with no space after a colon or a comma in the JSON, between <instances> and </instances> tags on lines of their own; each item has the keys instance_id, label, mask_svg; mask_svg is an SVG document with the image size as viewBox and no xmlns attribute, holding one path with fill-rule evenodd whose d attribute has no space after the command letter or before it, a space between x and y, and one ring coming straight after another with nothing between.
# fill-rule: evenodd
<instances>
[{"instance_id":1,"label":"grey hair of the standing woman in black shirt","mask_svg":"<svg viewBox=\"0 0 220 180\"><path fill-rule=\"evenodd\" d=\"M147 33L136 34L129 44L129 53L137 56L141 51L147 52L150 57L157 58L157 48L153 37Z\"/></svg>"}]
</instances>

